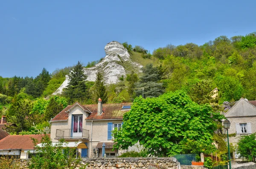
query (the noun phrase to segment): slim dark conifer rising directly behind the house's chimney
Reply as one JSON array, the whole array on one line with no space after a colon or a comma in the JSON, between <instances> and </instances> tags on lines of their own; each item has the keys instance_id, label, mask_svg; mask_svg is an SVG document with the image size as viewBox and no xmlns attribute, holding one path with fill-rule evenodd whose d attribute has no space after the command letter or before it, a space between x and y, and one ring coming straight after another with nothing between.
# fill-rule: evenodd
<instances>
[{"instance_id":1,"label":"slim dark conifer rising directly behind the house's chimney","mask_svg":"<svg viewBox=\"0 0 256 169\"><path fill-rule=\"evenodd\" d=\"M98 72L96 74L96 82L95 82L95 95L96 95L96 102L98 102L98 99L102 99L102 103L108 102L108 93L106 91L106 87L104 85L103 81L103 73Z\"/></svg>"}]
</instances>

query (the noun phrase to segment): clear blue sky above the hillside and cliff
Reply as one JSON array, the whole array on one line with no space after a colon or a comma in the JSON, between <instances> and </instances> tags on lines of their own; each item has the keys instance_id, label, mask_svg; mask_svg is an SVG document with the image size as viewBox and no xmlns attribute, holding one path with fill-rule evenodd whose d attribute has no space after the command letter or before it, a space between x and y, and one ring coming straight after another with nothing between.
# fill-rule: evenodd
<instances>
[{"instance_id":1,"label":"clear blue sky above the hillside and cliff","mask_svg":"<svg viewBox=\"0 0 256 169\"><path fill-rule=\"evenodd\" d=\"M255 0L6 0L0 2L0 76L86 64L113 40L149 51L256 31Z\"/></svg>"}]
</instances>

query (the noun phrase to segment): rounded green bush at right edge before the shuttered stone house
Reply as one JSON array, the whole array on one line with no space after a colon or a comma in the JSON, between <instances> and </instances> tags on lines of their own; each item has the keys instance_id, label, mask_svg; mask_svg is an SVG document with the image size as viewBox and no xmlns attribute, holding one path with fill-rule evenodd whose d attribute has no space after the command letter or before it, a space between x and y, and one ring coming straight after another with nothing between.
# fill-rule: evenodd
<instances>
[{"instance_id":1,"label":"rounded green bush at right edge before the shuttered stone house","mask_svg":"<svg viewBox=\"0 0 256 169\"><path fill-rule=\"evenodd\" d=\"M240 157L243 158L245 161L253 161L255 163L256 133L241 136L238 142L237 153L239 153Z\"/></svg>"}]
</instances>

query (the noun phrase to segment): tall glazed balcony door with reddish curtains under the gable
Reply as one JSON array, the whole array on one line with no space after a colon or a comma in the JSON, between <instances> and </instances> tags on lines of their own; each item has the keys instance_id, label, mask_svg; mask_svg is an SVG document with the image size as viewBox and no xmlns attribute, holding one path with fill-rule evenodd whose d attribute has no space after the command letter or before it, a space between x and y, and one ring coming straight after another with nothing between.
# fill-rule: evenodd
<instances>
[{"instance_id":1,"label":"tall glazed balcony door with reddish curtains under the gable","mask_svg":"<svg viewBox=\"0 0 256 169\"><path fill-rule=\"evenodd\" d=\"M82 128L83 128L83 115L73 115L73 137L81 137L82 136Z\"/></svg>"}]
</instances>

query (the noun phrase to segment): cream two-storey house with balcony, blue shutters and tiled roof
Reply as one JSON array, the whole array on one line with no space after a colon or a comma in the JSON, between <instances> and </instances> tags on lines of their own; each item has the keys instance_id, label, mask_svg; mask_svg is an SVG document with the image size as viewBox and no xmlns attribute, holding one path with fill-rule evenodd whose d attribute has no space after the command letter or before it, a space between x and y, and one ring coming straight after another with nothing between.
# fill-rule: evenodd
<instances>
[{"instance_id":1,"label":"cream two-storey house with balcony, blue shutters and tiled roof","mask_svg":"<svg viewBox=\"0 0 256 169\"><path fill-rule=\"evenodd\" d=\"M117 156L119 151L112 151L112 130L122 127L123 115L130 109L131 103L102 104L101 99L98 104L76 102L51 119L50 137L53 143L65 139L70 145L78 145L81 158Z\"/></svg>"}]
</instances>

